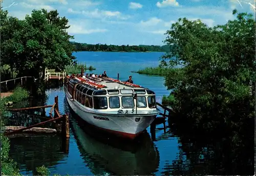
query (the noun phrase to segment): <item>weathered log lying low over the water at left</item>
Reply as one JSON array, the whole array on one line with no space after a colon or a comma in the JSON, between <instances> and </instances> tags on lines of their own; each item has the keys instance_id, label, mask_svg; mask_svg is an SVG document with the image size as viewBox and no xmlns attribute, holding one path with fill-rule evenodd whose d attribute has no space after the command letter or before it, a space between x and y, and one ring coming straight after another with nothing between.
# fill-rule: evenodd
<instances>
[{"instance_id":1,"label":"weathered log lying low over the water at left","mask_svg":"<svg viewBox=\"0 0 256 176\"><path fill-rule=\"evenodd\" d=\"M22 129L25 126L5 126L5 131L15 131L18 129ZM34 133L57 133L56 129L51 129L51 128L40 128L40 127L33 127L30 129L25 129L23 133L29 133L29 132L34 132Z\"/></svg>"}]
</instances>

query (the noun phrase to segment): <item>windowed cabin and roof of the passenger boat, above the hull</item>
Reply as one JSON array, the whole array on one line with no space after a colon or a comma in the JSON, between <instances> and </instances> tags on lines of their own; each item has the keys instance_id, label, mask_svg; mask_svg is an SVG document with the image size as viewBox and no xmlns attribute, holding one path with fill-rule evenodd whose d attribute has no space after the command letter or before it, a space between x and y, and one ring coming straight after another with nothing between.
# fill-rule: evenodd
<instances>
[{"instance_id":1,"label":"windowed cabin and roof of the passenger boat, above the hull","mask_svg":"<svg viewBox=\"0 0 256 176\"><path fill-rule=\"evenodd\" d=\"M156 109L155 93L141 87L126 86L110 81L102 81L97 86L71 79L66 84L66 91L73 100L88 108L103 111L107 109L109 111L132 110L136 106L139 111Z\"/></svg>"}]
</instances>

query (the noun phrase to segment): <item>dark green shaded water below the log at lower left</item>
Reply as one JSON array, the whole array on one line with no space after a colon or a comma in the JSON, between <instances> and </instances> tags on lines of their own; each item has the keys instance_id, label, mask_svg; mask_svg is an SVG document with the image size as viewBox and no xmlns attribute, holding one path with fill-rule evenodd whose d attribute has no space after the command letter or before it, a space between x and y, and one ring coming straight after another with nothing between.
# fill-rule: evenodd
<instances>
[{"instance_id":1,"label":"dark green shaded water below the log at lower left","mask_svg":"<svg viewBox=\"0 0 256 176\"><path fill-rule=\"evenodd\" d=\"M37 135L10 139L10 157L19 164L20 172L35 175L35 168L56 165L67 157L58 135Z\"/></svg>"}]
</instances>

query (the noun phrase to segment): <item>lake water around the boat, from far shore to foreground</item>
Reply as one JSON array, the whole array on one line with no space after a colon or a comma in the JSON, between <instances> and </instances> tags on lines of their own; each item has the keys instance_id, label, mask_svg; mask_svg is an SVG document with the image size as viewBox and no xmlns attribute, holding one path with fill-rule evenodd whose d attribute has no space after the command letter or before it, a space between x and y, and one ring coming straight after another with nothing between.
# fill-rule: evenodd
<instances>
[{"instance_id":1,"label":"lake water around the boat, from far shore to foreground","mask_svg":"<svg viewBox=\"0 0 256 176\"><path fill-rule=\"evenodd\" d=\"M162 54L78 52L74 55L77 56L78 62L93 65L97 69L93 71L95 74L101 74L105 70L108 76L116 78L119 73L121 80L126 80L132 75L134 83L155 91L157 102L161 102L161 97L170 92L163 85L164 78L139 75L131 71L156 67ZM156 129L156 141L153 142L150 127L147 128L146 134L134 142L109 139L81 123L79 117L69 108L62 86L51 88L46 94L46 104L53 104L54 97L58 96L60 113L69 113L70 140L63 141L59 136L52 135L11 139L11 157L18 163L22 174L31 175L35 173L35 168L41 165L47 166L52 174L61 175L229 175L235 172L232 169L236 168L231 165L229 170L223 172L226 168L220 166L222 151L212 149L218 147L218 143L205 143L203 138L195 142L195 139L185 135L178 138L168 128L165 134L163 130ZM36 101L39 104L43 102ZM46 113L49 112L50 108ZM20 119L22 118L19 118L19 122L22 123ZM23 123L26 124L28 121L26 119ZM162 124L157 127L162 127ZM69 145L66 145L66 142ZM231 163L229 158L225 161ZM249 173L248 169L244 168L243 173Z\"/></svg>"}]
</instances>

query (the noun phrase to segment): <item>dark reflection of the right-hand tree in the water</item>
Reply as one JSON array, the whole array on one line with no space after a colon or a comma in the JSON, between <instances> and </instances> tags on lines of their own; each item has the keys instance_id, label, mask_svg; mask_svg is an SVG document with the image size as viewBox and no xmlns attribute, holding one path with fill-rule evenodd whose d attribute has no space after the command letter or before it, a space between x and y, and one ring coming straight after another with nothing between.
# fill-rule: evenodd
<instances>
[{"instance_id":1,"label":"dark reflection of the right-hand tree in the water","mask_svg":"<svg viewBox=\"0 0 256 176\"><path fill-rule=\"evenodd\" d=\"M253 119L251 119L253 120ZM250 122L251 124L253 121ZM205 134L169 119L169 134L179 138L179 153L166 165L165 175L252 175L254 173L253 128L241 141L225 133ZM248 126L250 126L248 124ZM221 130L221 129L220 129Z\"/></svg>"}]
</instances>

